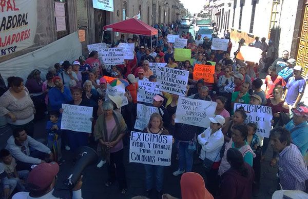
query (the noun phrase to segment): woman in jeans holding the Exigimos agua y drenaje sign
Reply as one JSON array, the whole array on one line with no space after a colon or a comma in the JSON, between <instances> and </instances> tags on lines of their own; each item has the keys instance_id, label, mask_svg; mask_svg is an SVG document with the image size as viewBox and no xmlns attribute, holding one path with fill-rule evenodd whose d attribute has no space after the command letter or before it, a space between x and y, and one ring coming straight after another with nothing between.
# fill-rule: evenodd
<instances>
[{"instance_id":1,"label":"woman in jeans holding the Exigimos agua y drenaje sign","mask_svg":"<svg viewBox=\"0 0 308 199\"><path fill-rule=\"evenodd\" d=\"M150 121L148 126L143 129L144 133L152 133L158 135L169 135L169 132L164 129L162 117L159 113L153 113L150 117ZM156 182L156 190L159 196L162 194L163 183L164 183L164 166L159 165L144 165L145 168L145 185L146 185L146 192L147 196L149 197L152 188L153 188L153 181L155 177Z\"/></svg>"}]
</instances>

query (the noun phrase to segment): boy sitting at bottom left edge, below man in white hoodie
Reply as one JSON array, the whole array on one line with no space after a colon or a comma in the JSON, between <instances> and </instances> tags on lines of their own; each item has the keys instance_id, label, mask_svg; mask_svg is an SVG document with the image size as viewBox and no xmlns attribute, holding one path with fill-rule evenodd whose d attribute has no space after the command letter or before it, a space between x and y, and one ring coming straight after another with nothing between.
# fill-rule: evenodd
<instances>
[{"instance_id":1,"label":"boy sitting at bottom left edge, below man in white hoodie","mask_svg":"<svg viewBox=\"0 0 308 199\"><path fill-rule=\"evenodd\" d=\"M13 181L16 181L16 191L25 191L25 181L27 180L29 171L17 171L16 170L16 161L15 158L12 157L10 152L6 149L2 149L0 151L0 160L4 165L5 172L7 177Z\"/></svg>"}]
</instances>

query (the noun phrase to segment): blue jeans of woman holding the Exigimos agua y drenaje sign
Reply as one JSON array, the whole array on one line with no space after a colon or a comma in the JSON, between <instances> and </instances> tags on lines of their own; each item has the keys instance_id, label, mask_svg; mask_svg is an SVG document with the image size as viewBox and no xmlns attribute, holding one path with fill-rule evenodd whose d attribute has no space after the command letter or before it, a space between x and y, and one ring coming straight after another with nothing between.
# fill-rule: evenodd
<instances>
[{"instance_id":1,"label":"blue jeans of woman holding the Exigimos agua y drenaje sign","mask_svg":"<svg viewBox=\"0 0 308 199\"><path fill-rule=\"evenodd\" d=\"M164 166L158 165L144 165L145 169L145 186L146 190L151 190L153 188L153 177L155 176L156 190L160 192L164 185Z\"/></svg>"}]
</instances>

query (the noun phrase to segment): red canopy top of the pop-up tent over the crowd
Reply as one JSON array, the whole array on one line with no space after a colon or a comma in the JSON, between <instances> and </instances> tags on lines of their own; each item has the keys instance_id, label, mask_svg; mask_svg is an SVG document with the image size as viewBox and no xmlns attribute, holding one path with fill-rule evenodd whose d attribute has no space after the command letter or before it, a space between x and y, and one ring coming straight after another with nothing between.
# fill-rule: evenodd
<instances>
[{"instance_id":1,"label":"red canopy top of the pop-up tent over the crowd","mask_svg":"<svg viewBox=\"0 0 308 199\"><path fill-rule=\"evenodd\" d=\"M131 34L140 34L146 36L152 36L158 34L157 29L147 25L142 21L137 20L136 18L126 19L122 22L104 26L104 30L122 32L122 33L131 33Z\"/></svg>"}]
</instances>

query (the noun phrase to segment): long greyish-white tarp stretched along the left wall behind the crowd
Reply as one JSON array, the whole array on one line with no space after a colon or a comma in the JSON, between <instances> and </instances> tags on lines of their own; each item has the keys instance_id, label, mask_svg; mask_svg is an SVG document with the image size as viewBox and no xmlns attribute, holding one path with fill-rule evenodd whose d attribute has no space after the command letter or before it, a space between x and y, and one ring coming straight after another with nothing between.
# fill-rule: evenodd
<instances>
[{"instance_id":1,"label":"long greyish-white tarp stretched along the left wall behind the crowd","mask_svg":"<svg viewBox=\"0 0 308 199\"><path fill-rule=\"evenodd\" d=\"M78 32L74 32L40 49L0 63L0 73L5 81L9 76L20 76L26 81L28 74L38 69L45 79L48 67L65 60L74 61L82 55L81 49Z\"/></svg>"}]
</instances>

